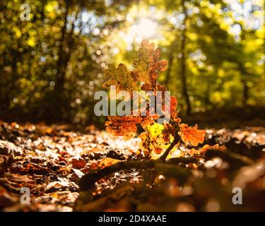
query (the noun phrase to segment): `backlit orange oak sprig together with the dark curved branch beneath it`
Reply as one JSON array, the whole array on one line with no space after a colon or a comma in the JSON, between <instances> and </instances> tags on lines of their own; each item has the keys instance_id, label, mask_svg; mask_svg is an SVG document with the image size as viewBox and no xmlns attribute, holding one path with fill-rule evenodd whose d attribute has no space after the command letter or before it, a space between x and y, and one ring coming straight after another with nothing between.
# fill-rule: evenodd
<instances>
[{"instance_id":1,"label":"backlit orange oak sprig together with the dark curved branch beneath it","mask_svg":"<svg viewBox=\"0 0 265 226\"><path fill-rule=\"evenodd\" d=\"M117 162L110 167L91 171L79 181L81 190L90 189L98 179L105 177L107 174L131 168L153 168L160 174L176 177L179 183L185 182L191 172L179 167L179 165L167 162L167 158L170 158L170 152L174 153L176 151L179 153L177 161L179 162L179 160L186 161L187 155L196 157L197 155L204 155L208 150L225 149L225 147L219 147L217 144L213 146L204 145L198 150L192 148L189 153L180 150L179 145L181 143L190 143L192 146L204 143L206 131L198 129L197 125L190 127L187 124L182 124L177 115L177 98L170 96L170 101L166 100L165 92L167 92L167 88L158 83L157 77L159 73L165 71L167 61L160 61L159 57L160 49L155 49L153 43L143 40L139 48L139 57L133 61L133 71L126 69L124 64L119 64L117 69L114 66L108 66L108 69L105 69L106 81L102 85L103 88L110 88L115 85L117 92L123 90L129 92L131 98L134 97L134 92L141 93L141 91L155 95L155 97L146 95L143 98L147 102L146 105L141 105L143 99L139 98L139 114L136 115L134 111L131 111L129 115L123 117L108 116L108 121L105 123L107 131L110 131L114 136L124 136L126 138L135 136L138 126L141 125L144 131L140 134L139 149L143 158L141 160ZM150 100L152 97L158 98L158 91L163 94L160 97L162 100L155 101L155 105L152 105ZM169 120L163 121L163 124L158 123L161 114L157 114L156 109L160 109ZM142 111L146 114L141 114Z\"/></svg>"}]
</instances>

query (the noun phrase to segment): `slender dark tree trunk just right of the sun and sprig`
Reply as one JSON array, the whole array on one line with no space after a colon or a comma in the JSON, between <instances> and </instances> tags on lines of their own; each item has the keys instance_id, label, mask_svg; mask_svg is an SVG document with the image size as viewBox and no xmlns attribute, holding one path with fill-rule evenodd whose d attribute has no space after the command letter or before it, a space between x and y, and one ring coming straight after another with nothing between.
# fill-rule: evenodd
<instances>
[{"instance_id":1,"label":"slender dark tree trunk just right of the sun and sprig","mask_svg":"<svg viewBox=\"0 0 265 226\"><path fill-rule=\"evenodd\" d=\"M182 54L181 59L181 81L182 81L182 94L184 96L184 100L187 105L187 114L191 114L191 103L189 101L189 94L187 90L187 70L186 70L186 32L187 32L187 10L186 6L184 4L184 0L182 0L182 11L184 13L184 19L183 19L183 30L182 30L182 39L181 39L181 47L180 47L180 53Z\"/></svg>"}]
</instances>

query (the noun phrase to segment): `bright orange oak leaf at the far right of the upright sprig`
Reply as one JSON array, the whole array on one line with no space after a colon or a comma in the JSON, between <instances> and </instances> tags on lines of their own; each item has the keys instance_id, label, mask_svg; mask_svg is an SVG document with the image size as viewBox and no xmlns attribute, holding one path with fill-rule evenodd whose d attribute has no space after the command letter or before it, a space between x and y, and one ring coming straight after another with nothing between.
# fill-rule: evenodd
<instances>
[{"instance_id":1,"label":"bright orange oak leaf at the far right of the upright sprig","mask_svg":"<svg viewBox=\"0 0 265 226\"><path fill-rule=\"evenodd\" d=\"M206 131L199 130L198 125L189 127L187 124L180 124L179 127L179 136L182 138L182 141L189 142L193 146L196 146L199 143L204 143L204 136Z\"/></svg>"}]
</instances>

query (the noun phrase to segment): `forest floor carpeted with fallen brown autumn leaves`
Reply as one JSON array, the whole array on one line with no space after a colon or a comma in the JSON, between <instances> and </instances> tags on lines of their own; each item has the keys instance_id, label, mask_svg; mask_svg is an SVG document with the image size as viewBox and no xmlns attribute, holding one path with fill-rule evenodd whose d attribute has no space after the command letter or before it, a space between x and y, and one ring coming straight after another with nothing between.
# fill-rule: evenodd
<instances>
[{"instance_id":1,"label":"forest floor carpeted with fallen brown autumn leaves","mask_svg":"<svg viewBox=\"0 0 265 226\"><path fill-rule=\"evenodd\" d=\"M265 210L264 126L208 127L205 143L225 145L225 151L187 154L161 163L162 172L153 166L121 167L98 177L95 186L80 186L80 178L95 169L140 160L139 141L114 138L95 126L76 131L1 121L0 210ZM22 187L30 189L30 204L20 202ZM232 203L235 187L242 189L242 205Z\"/></svg>"}]
</instances>

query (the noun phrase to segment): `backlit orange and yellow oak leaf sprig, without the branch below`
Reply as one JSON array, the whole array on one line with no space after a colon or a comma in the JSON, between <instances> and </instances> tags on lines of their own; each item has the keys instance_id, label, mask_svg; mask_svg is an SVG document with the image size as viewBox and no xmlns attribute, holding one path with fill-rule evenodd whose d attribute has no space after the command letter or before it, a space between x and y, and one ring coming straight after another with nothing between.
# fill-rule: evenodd
<instances>
[{"instance_id":1,"label":"backlit orange and yellow oak leaf sprig, without the branch below","mask_svg":"<svg viewBox=\"0 0 265 226\"><path fill-rule=\"evenodd\" d=\"M181 142L190 143L193 146L204 143L206 131L198 129L197 125L190 127L181 123L181 119L177 115L177 98L175 96L170 96L170 101L165 100L167 88L165 85L158 83L157 78L161 72L166 70L167 61L159 60L159 57L160 49L155 49L153 43L143 40L139 48L139 57L133 61L134 70L129 71L124 64L119 64L117 69L114 66L109 66L104 71L106 81L102 86L103 88L110 88L110 86L116 85L117 90L131 93L131 98L133 98L132 94L134 92L141 93L145 91L154 95L157 95L158 92L163 93L162 97L160 97L162 100L160 102L157 101L156 106L150 104L151 98L147 95L146 100L148 100L148 103L144 109L141 105L142 100L138 102L139 115L135 116L134 112L131 111L131 115L124 117L109 116L105 125L107 126L107 131L110 131L115 136L131 137L136 133L137 125L141 124L144 129L144 132L140 134L142 140L140 148L143 151L143 155L165 161L170 150L173 148L177 150ZM155 97L158 98L157 96ZM157 114L153 108L161 109L165 115L167 114L166 109L169 109L170 115L168 117L170 120L165 120L163 124L158 124L160 114ZM146 116L143 116L141 111L147 112ZM205 145L200 150L205 152L211 148L216 149L218 145L214 147Z\"/></svg>"}]
</instances>

